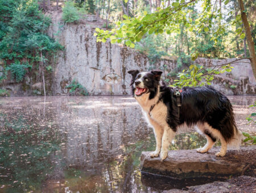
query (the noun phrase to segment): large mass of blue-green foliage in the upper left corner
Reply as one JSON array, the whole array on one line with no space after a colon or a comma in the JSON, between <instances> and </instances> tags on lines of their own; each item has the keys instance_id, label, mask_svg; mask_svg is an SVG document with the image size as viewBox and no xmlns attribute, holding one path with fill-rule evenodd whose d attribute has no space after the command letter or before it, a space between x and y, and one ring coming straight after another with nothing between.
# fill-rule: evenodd
<instances>
[{"instance_id":1,"label":"large mass of blue-green foliage in the upper left corner","mask_svg":"<svg viewBox=\"0 0 256 193\"><path fill-rule=\"evenodd\" d=\"M47 35L51 20L39 10L36 0L0 0L0 11L0 59L5 71L10 70L20 82L26 69L38 69L41 53L47 62L61 46Z\"/></svg>"}]
</instances>

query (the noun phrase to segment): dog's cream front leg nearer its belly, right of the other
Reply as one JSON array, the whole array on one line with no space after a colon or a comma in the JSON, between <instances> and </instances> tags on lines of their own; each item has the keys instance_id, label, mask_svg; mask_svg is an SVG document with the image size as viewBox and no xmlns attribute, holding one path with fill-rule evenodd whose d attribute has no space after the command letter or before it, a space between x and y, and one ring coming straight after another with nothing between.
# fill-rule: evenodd
<instances>
[{"instance_id":1,"label":"dog's cream front leg nearer its belly, right of the other","mask_svg":"<svg viewBox=\"0 0 256 193\"><path fill-rule=\"evenodd\" d=\"M161 149L161 153L160 153L161 161L163 161L167 158L168 148L169 148L169 145L170 145L172 139L174 139L174 136L175 136L175 132L172 131L172 129L170 127L164 128L164 133L163 133L163 138L162 138L162 149Z\"/></svg>"}]
</instances>

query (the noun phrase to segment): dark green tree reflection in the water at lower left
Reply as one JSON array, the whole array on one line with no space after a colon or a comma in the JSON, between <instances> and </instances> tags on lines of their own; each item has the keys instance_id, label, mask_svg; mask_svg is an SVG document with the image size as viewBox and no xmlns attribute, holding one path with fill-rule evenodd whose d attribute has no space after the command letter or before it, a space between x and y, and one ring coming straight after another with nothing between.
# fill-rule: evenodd
<instances>
[{"instance_id":1,"label":"dark green tree reflection in the water at lower left","mask_svg":"<svg viewBox=\"0 0 256 193\"><path fill-rule=\"evenodd\" d=\"M29 125L22 114L1 114L0 183L6 192L38 190L56 166L59 132L47 126Z\"/></svg>"}]
</instances>

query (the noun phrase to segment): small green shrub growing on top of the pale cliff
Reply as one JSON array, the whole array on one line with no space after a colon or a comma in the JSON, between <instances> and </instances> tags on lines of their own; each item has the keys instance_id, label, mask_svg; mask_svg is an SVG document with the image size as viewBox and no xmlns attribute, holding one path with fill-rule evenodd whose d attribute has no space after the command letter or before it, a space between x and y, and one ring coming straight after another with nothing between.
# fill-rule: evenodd
<instances>
[{"instance_id":1,"label":"small green shrub growing on top of the pale cliff","mask_svg":"<svg viewBox=\"0 0 256 193\"><path fill-rule=\"evenodd\" d=\"M65 3L63 7L62 19L65 23L76 23L80 19L79 11L73 2L68 1Z\"/></svg>"}]
</instances>

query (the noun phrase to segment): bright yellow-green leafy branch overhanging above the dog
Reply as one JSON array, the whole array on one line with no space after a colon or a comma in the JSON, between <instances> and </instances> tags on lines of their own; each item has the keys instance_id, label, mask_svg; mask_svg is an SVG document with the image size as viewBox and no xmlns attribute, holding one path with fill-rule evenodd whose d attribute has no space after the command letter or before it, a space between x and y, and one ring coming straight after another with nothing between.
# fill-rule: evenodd
<instances>
[{"instance_id":1,"label":"bright yellow-green leafy branch overhanging above the dog","mask_svg":"<svg viewBox=\"0 0 256 193\"><path fill-rule=\"evenodd\" d=\"M105 42L110 39L111 43L125 43L127 46L134 48L134 43L141 41L142 37L148 32L149 34L166 32L180 33L180 25L184 25L189 32L196 34L201 32L208 32L214 22L221 18L220 9L216 9L217 1L212 4L211 1L205 0L202 2L200 14L193 14L193 6L199 1L192 0L185 2L173 2L171 6L164 8L158 7L158 11L149 14L147 11L143 15L131 18L130 16L123 15L124 20L117 22L117 28L111 31L100 30L96 28L95 36L97 41ZM226 0L226 5L229 0ZM232 11L228 13L232 14ZM233 23L241 23L241 16L237 17ZM217 30L213 31L211 40L217 42L217 37L220 33L225 32L225 26L220 26ZM237 33L241 33L242 28L238 28ZM241 34L241 38L244 33Z\"/></svg>"}]
</instances>

